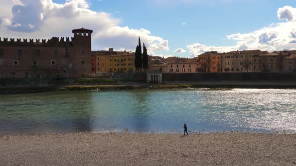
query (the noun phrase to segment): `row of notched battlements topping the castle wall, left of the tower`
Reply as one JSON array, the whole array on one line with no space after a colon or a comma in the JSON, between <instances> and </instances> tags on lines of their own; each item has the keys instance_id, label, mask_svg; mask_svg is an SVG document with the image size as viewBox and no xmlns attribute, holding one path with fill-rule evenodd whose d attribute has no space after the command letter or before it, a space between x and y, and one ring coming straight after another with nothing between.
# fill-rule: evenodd
<instances>
[{"instance_id":1,"label":"row of notched battlements topping the castle wall, left of the tower","mask_svg":"<svg viewBox=\"0 0 296 166\"><path fill-rule=\"evenodd\" d=\"M51 39L31 39L31 38L7 38L4 37L3 39L0 37L0 45L3 46L72 46L74 41L74 37L52 37Z\"/></svg>"}]
</instances>

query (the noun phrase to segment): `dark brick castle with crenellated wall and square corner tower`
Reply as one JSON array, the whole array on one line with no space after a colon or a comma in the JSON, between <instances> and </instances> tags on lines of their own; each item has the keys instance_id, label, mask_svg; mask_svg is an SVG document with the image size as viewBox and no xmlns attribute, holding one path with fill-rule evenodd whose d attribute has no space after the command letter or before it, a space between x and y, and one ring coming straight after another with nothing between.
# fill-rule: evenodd
<instances>
[{"instance_id":1,"label":"dark brick castle with crenellated wall and square corner tower","mask_svg":"<svg viewBox=\"0 0 296 166\"><path fill-rule=\"evenodd\" d=\"M0 38L0 78L84 77L91 73L90 29L72 30L74 37Z\"/></svg>"}]
</instances>

